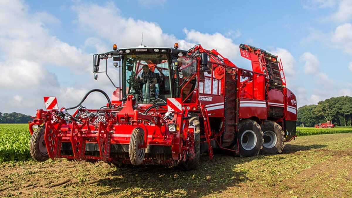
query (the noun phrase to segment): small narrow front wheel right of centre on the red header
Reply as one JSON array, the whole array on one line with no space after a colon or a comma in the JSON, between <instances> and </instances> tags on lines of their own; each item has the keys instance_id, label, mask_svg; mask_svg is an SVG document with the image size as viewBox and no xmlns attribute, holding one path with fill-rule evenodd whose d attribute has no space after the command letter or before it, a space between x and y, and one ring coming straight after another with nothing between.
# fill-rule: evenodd
<instances>
[{"instance_id":1,"label":"small narrow front wheel right of centre on the red header","mask_svg":"<svg viewBox=\"0 0 352 198\"><path fill-rule=\"evenodd\" d=\"M145 148L139 148L142 144L144 144L144 130L137 127L132 131L129 146L130 160L134 166L141 165L143 162Z\"/></svg>"}]
</instances>

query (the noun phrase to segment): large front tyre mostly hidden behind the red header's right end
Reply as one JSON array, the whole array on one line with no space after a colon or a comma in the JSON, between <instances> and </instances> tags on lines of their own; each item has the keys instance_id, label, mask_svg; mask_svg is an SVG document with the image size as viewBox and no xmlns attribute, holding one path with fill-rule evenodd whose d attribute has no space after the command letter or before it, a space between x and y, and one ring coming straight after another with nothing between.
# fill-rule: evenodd
<instances>
[{"instance_id":1,"label":"large front tyre mostly hidden behind the red header's right end","mask_svg":"<svg viewBox=\"0 0 352 198\"><path fill-rule=\"evenodd\" d=\"M198 168L199 158L200 158L200 122L199 116L196 113L191 114L189 119L189 125L195 126L194 131L194 151L195 156L193 159L187 159L186 161L180 161L178 167L183 171L189 171Z\"/></svg>"}]
</instances>

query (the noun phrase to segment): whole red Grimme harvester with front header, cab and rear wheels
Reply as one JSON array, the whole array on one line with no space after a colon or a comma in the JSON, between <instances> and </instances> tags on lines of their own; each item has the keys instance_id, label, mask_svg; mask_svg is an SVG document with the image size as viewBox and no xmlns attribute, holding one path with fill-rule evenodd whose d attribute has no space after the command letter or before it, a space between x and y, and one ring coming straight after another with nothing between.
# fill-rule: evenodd
<instances>
[{"instance_id":1,"label":"whole red Grimme harvester with front header, cab and rear wheels","mask_svg":"<svg viewBox=\"0 0 352 198\"><path fill-rule=\"evenodd\" d=\"M58 110L44 97L29 123L35 160L103 160L116 165L197 168L200 153L213 149L240 156L281 153L296 130L296 97L286 88L281 61L264 50L240 45L252 71L235 66L201 45L187 50L146 47L93 56L93 73L106 73L107 59L119 70L112 100L89 91L75 107ZM105 61L104 61L105 60ZM101 67L105 62L105 69ZM83 101L92 92L107 100L100 109ZM105 103L102 101L102 103ZM67 110L76 109L70 115ZM37 127L33 131L34 126Z\"/></svg>"}]
</instances>

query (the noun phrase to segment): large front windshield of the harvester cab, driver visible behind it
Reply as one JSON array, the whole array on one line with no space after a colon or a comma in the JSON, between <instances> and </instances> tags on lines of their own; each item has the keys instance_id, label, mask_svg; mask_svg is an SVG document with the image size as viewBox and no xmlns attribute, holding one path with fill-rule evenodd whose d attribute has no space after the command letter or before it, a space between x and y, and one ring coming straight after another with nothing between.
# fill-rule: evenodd
<instances>
[{"instance_id":1,"label":"large front windshield of the harvester cab, driver visible behind it","mask_svg":"<svg viewBox=\"0 0 352 198\"><path fill-rule=\"evenodd\" d=\"M124 97L133 94L144 104L171 97L168 54L129 54L122 60Z\"/></svg>"}]
</instances>

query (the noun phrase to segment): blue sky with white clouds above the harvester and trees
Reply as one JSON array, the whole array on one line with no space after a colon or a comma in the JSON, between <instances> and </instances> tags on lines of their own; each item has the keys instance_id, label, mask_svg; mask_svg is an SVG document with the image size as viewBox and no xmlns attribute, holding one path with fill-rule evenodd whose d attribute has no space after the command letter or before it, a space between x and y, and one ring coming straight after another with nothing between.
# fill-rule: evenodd
<instances>
[{"instance_id":1,"label":"blue sky with white clouds above the harvester and trees","mask_svg":"<svg viewBox=\"0 0 352 198\"><path fill-rule=\"evenodd\" d=\"M352 0L0 1L0 112L34 115L43 96L74 106L95 81L92 54L143 44L217 49L249 68L238 45L278 55L298 106L352 96ZM109 68L113 78L114 68ZM105 100L93 94L88 107Z\"/></svg>"}]
</instances>

